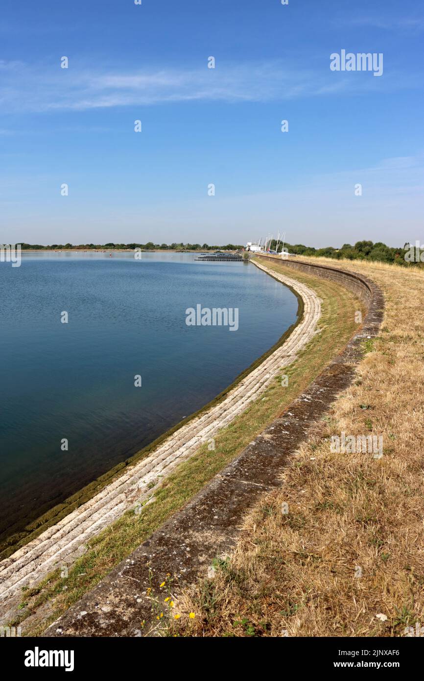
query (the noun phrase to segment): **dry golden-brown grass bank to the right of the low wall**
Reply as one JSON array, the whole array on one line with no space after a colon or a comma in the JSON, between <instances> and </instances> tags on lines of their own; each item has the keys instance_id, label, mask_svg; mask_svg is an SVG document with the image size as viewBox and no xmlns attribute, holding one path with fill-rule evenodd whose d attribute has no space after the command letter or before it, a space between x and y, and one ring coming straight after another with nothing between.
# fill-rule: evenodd
<instances>
[{"instance_id":1,"label":"dry golden-brown grass bank to the right of the low wall","mask_svg":"<svg viewBox=\"0 0 424 681\"><path fill-rule=\"evenodd\" d=\"M382 288L380 335L368 342L355 383L293 458L282 488L246 518L214 580L180 595L174 634L402 636L407 625L424 624L424 274L321 262L362 272ZM331 453L329 438L342 431L382 434L382 458Z\"/></svg>"}]
</instances>

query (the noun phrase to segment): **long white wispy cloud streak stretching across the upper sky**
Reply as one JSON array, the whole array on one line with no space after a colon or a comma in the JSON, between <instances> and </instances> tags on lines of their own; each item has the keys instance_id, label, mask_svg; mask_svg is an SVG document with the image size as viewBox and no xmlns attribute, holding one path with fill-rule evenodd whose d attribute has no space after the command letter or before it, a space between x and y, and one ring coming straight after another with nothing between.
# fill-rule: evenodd
<instances>
[{"instance_id":1,"label":"long white wispy cloud streak stretching across the upper sky","mask_svg":"<svg viewBox=\"0 0 424 681\"><path fill-rule=\"evenodd\" d=\"M217 63L208 69L87 70L0 61L0 111L90 110L148 106L178 101L272 101L408 87L399 74L376 83L368 72L336 74L329 61L305 68L270 61L242 65ZM347 77L346 77L347 76ZM380 81L380 79L378 79ZM381 79L383 80L383 79ZM411 82L412 84L412 78Z\"/></svg>"}]
</instances>

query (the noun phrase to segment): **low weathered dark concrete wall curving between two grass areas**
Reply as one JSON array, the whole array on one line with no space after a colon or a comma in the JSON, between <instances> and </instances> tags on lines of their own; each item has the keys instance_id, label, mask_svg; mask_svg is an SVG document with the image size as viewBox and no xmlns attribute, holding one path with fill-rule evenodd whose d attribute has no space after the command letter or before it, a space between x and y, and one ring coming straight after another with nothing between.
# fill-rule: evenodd
<instances>
[{"instance_id":1,"label":"low weathered dark concrete wall curving between two grass areas","mask_svg":"<svg viewBox=\"0 0 424 681\"><path fill-rule=\"evenodd\" d=\"M321 276L332 279L331 272ZM368 314L363 328L344 352L282 417L250 443L184 509L54 622L45 636L135 636L143 621L146 622L143 631L148 634L155 620L146 597L147 588L153 586L159 591L166 573L176 577L180 586L193 583L215 556L231 549L246 511L263 492L280 485L280 473L287 459L338 392L352 381L355 364L361 357L361 341L378 332L384 306L382 294L374 283L357 275L353 277L350 279L349 273L336 270L336 281L348 285L353 282L358 294L362 287L361 298L368 304Z\"/></svg>"}]
</instances>

